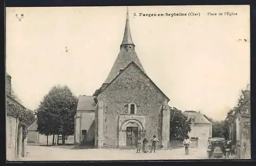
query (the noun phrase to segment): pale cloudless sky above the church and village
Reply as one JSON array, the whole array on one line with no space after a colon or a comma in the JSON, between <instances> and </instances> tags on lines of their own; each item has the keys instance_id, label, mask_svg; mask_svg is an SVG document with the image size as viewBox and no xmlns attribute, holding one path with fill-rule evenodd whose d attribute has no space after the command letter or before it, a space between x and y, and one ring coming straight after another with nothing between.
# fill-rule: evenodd
<instances>
[{"instance_id":1,"label":"pale cloudless sky above the church and village","mask_svg":"<svg viewBox=\"0 0 256 166\"><path fill-rule=\"evenodd\" d=\"M249 6L133 6L129 12L137 55L169 105L224 120L250 82ZM190 12L200 16L139 16ZM21 21L16 14L24 14ZM18 98L35 109L57 84L92 95L117 58L125 17L126 7L6 8L6 71Z\"/></svg>"}]
</instances>

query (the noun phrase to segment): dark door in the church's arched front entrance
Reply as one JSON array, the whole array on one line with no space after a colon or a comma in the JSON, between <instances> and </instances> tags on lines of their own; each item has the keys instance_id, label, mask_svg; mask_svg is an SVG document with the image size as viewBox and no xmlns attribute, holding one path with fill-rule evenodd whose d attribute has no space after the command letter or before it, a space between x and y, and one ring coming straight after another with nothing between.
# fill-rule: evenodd
<instances>
[{"instance_id":1,"label":"dark door in the church's arched front entrance","mask_svg":"<svg viewBox=\"0 0 256 166\"><path fill-rule=\"evenodd\" d=\"M126 146L135 148L138 141L138 127L126 128Z\"/></svg>"}]
</instances>

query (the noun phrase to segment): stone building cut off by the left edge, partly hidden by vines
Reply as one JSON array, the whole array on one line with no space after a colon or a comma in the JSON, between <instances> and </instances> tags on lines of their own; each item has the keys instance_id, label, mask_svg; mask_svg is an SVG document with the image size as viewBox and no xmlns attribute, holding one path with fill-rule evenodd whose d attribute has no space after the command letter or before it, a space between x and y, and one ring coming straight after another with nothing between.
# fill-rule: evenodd
<instances>
[{"instance_id":1,"label":"stone building cut off by the left edge, partly hidden by vines","mask_svg":"<svg viewBox=\"0 0 256 166\"><path fill-rule=\"evenodd\" d=\"M6 73L6 106L27 109L12 96L11 76ZM8 108L7 107L7 108ZM8 111L8 110L6 110ZM6 116L6 155L7 160L15 160L24 157L27 150L27 138L23 138L23 129L19 125L19 119Z\"/></svg>"}]
</instances>

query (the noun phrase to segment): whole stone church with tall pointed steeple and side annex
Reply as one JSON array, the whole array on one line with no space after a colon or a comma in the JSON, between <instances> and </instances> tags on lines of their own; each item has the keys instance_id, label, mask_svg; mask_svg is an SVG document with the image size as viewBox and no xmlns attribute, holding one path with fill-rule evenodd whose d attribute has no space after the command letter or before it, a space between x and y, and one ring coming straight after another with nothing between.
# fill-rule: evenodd
<instances>
[{"instance_id":1,"label":"whole stone church with tall pointed steeple and side annex","mask_svg":"<svg viewBox=\"0 0 256 166\"><path fill-rule=\"evenodd\" d=\"M169 98L148 77L136 54L129 11L116 61L93 96L79 96L75 115L76 144L95 148L134 148L153 135L158 148L169 147Z\"/></svg>"}]
</instances>

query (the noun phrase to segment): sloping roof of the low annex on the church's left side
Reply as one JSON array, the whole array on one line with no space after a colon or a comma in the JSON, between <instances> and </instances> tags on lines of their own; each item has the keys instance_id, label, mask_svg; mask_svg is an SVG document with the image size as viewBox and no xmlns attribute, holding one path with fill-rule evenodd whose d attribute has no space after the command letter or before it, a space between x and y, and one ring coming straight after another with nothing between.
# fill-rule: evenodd
<instances>
[{"instance_id":1,"label":"sloping roof of the low annex on the church's left side","mask_svg":"<svg viewBox=\"0 0 256 166\"><path fill-rule=\"evenodd\" d=\"M95 110L95 96L79 96L76 110Z\"/></svg>"}]
</instances>

